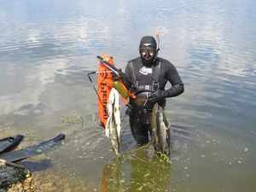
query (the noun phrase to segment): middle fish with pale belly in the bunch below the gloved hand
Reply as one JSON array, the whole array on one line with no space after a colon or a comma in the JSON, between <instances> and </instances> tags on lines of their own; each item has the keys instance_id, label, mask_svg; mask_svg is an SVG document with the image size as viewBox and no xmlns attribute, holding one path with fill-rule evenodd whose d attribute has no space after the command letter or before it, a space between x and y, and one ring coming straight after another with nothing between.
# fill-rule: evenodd
<instances>
[{"instance_id":1,"label":"middle fish with pale belly in the bunch below the gloved hand","mask_svg":"<svg viewBox=\"0 0 256 192\"><path fill-rule=\"evenodd\" d=\"M168 144L168 141L170 141L170 128L169 123L167 122L166 115L164 114L164 108L158 107L157 113L156 113L156 123L157 123L157 136L158 136L158 143L160 152L163 154L169 154L170 153L170 145Z\"/></svg>"}]
</instances>

